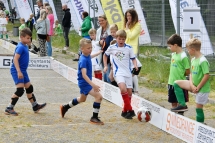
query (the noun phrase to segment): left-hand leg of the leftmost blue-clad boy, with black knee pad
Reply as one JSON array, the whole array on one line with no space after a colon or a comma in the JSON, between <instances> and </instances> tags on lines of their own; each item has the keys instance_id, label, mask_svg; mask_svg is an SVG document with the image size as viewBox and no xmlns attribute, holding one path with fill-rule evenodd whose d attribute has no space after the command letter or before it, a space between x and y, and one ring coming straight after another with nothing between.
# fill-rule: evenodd
<instances>
[{"instance_id":1,"label":"left-hand leg of the leftmost blue-clad boy, with black knee pad","mask_svg":"<svg viewBox=\"0 0 215 143\"><path fill-rule=\"evenodd\" d=\"M14 106L16 105L17 101L19 100L19 97L21 97L24 94L24 83L18 83L16 85L16 92L11 97L11 102L8 104L8 106L5 109L5 114L7 115L14 115L17 116L18 114L14 111Z\"/></svg>"}]
</instances>

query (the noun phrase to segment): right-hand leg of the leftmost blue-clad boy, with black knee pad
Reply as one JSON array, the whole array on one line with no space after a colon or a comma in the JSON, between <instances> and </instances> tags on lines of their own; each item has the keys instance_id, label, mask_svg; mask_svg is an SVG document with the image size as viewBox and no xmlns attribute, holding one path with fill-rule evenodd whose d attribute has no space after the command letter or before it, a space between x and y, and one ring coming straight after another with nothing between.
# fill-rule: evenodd
<instances>
[{"instance_id":1,"label":"right-hand leg of the leftmost blue-clad boy, with black knee pad","mask_svg":"<svg viewBox=\"0 0 215 143\"><path fill-rule=\"evenodd\" d=\"M46 106L46 103L43 103L43 104L37 103L36 97L33 94L33 91L34 91L33 85L30 82L25 83L25 90L26 90L27 98L31 102L34 113L39 112L40 109Z\"/></svg>"}]
</instances>

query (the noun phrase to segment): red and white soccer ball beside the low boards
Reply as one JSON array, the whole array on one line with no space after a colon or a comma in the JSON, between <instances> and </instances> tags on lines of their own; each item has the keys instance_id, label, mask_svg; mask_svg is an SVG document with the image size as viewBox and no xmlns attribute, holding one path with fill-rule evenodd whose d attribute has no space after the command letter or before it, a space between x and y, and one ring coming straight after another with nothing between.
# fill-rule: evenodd
<instances>
[{"instance_id":1,"label":"red and white soccer ball beside the low boards","mask_svg":"<svg viewBox=\"0 0 215 143\"><path fill-rule=\"evenodd\" d=\"M137 119L140 122L148 122L152 118L151 111L146 107L141 107L137 111Z\"/></svg>"}]
</instances>

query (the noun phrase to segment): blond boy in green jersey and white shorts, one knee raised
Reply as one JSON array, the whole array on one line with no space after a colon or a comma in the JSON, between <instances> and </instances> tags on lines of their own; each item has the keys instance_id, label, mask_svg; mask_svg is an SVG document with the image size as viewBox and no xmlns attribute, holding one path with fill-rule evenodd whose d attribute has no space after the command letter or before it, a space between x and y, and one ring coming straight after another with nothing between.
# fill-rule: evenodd
<instances>
[{"instance_id":1,"label":"blond boy in green jersey and white shorts, one knee raised","mask_svg":"<svg viewBox=\"0 0 215 143\"><path fill-rule=\"evenodd\" d=\"M174 83L175 94L179 102L179 106L173 108L173 112L184 109L186 106L182 89L189 90L196 94L196 120L204 123L203 105L208 101L210 92L209 83L209 63L207 59L200 52L201 41L196 38L190 39L186 48L193 59L191 60L191 74L190 80L177 80Z\"/></svg>"}]
</instances>

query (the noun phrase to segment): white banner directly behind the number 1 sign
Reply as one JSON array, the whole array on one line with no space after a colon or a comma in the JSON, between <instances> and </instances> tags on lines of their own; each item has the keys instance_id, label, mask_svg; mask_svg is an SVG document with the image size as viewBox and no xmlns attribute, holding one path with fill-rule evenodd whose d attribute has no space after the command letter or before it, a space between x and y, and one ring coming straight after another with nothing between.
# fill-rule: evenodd
<instances>
[{"instance_id":1,"label":"white banner directly behind the number 1 sign","mask_svg":"<svg viewBox=\"0 0 215 143\"><path fill-rule=\"evenodd\" d=\"M177 13L176 13L176 0L169 0L170 3L170 7L171 7L171 13L172 13L172 20L175 26L175 29L177 29ZM189 7L194 7L194 6L198 6L195 0L180 0L180 35L182 37L182 41L183 41L183 47L185 47L186 42L190 39L189 35L190 34L194 34L196 38L200 39L202 41L202 48L201 48L201 52L204 55L209 55L209 54L213 54L213 47L210 41L210 38L208 36L208 32L207 29L205 27L205 23L203 21L202 15L200 15L200 32L199 33L192 33L192 32L183 32L183 27L184 27L184 23L186 22L190 22L189 20L187 21L183 21L184 19L184 14L183 14L183 9L184 8L189 8Z\"/></svg>"}]
</instances>

